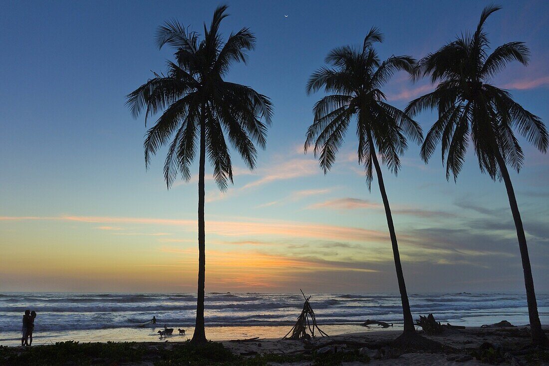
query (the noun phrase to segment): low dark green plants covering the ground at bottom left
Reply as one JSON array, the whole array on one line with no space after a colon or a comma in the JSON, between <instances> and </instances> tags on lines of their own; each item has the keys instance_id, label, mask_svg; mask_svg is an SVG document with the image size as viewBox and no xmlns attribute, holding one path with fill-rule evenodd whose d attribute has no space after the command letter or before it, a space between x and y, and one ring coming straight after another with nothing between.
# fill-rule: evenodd
<instances>
[{"instance_id":1,"label":"low dark green plants covering the ground at bottom left","mask_svg":"<svg viewBox=\"0 0 549 366\"><path fill-rule=\"evenodd\" d=\"M35 347L0 346L0 365L122 365L153 364L155 366L266 366L269 362L294 363L311 361L315 366L340 365L342 362L369 362L367 356L355 353L337 354L265 354L244 358L221 343L208 342L197 346L184 343L160 343L158 346L139 342L79 343L57 342Z\"/></svg>"}]
</instances>

